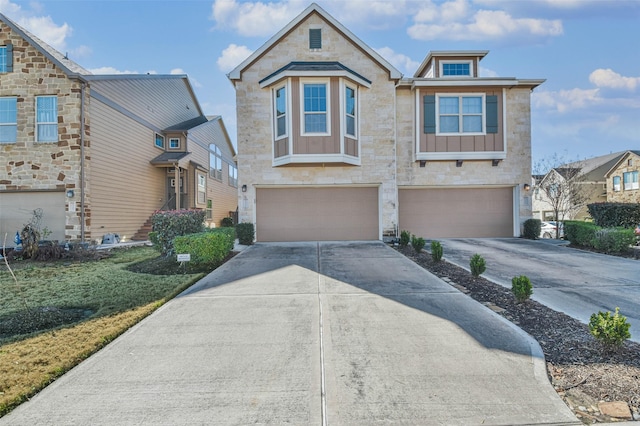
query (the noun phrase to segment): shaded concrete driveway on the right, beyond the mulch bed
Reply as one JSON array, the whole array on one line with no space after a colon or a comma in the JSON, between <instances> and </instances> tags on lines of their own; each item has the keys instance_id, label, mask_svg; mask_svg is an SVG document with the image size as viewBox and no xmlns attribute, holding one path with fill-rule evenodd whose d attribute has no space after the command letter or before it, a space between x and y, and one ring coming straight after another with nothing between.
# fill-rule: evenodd
<instances>
[{"instance_id":1,"label":"shaded concrete driveway on the right, beyond the mulch bed","mask_svg":"<svg viewBox=\"0 0 640 426\"><path fill-rule=\"evenodd\" d=\"M477 238L441 240L444 258L465 269L479 253L487 262L483 277L507 288L516 275L533 284L532 298L585 324L598 311L620 312L640 342L640 261L575 250L557 240ZM566 243L566 242L565 242Z\"/></svg>"}]
</instances>

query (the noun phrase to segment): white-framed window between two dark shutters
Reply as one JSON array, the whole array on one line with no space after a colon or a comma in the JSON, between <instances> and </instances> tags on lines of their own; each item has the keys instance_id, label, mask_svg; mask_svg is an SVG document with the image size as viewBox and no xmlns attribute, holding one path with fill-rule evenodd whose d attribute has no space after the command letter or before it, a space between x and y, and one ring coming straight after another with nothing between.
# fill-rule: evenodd
<instances>
[{"instance_id":1,"label":"white-framed window between two dark shutters","mask_svg":"<svg viewBox=\"0 0 640 426\"><path fill-rule=\"evenodd\" d=\"M439 96L437 133L483 133L482 96Z\"/></svg>"}]
</instances>

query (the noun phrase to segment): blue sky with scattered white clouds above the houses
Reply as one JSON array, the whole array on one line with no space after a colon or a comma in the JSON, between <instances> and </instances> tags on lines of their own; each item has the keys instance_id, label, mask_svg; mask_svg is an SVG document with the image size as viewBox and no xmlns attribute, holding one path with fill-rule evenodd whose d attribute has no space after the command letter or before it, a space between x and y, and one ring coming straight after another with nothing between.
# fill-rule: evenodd
<instances>
[{"instance_id":1,"label":"blue sky with scattered white clouds above the houses","mask_svg":"<svg viewBox=\"0 0 640 426\"><path fill-rule=\"evenodd\" d=\"M429 51L489 50L482 77L546 79L534 167L640 149L640 0L317 0L405 76ZM310 1L0 0L0 13L94 74L187 74L236 141L227 73Z\"/></svg>"}]
</instances>

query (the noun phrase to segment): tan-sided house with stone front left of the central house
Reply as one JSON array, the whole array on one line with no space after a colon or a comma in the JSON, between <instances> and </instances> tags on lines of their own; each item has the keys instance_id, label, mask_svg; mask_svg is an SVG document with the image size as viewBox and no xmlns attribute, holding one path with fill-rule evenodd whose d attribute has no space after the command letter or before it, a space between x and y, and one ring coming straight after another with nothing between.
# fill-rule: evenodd
<instances>
[{"instance_id":1,"label":"tan-sided house with stone front left of the central house","mask_svg":"<svg viewBox=\"0 0 640 426\"><path fill-rule=\"evenodd\" d=\"M146 239L157 210L235 211L235 150L186 75L92 75L0 15L0 234Z\"/></svg>"}]
</instances>

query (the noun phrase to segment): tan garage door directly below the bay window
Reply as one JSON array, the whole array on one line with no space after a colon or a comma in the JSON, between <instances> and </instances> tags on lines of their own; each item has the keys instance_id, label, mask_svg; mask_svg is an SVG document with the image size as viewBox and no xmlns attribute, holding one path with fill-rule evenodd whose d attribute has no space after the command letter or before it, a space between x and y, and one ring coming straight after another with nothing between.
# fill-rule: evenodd
<instances>
[{"instance_id":1,"label":"tan garage door directly below the bay window","mask_svg":"<svg viewBox=\"0 0 640 426\"><path fill-rule=\"evenodd\" d=\"M377 240L378 188L258 188L258 241Z\"/></svg>"}]
</instances>

